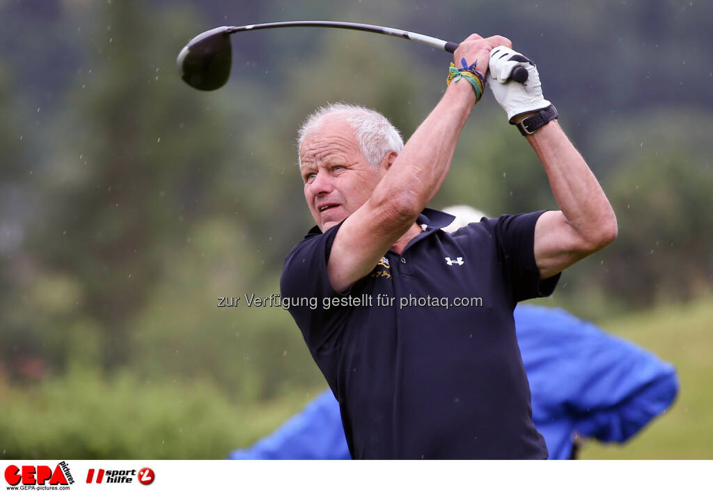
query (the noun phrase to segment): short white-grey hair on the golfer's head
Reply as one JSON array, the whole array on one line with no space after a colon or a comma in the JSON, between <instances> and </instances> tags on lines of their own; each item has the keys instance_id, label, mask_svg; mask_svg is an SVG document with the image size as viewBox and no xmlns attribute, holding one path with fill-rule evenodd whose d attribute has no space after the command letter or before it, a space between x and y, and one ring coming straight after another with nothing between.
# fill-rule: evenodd
<instances>
[{"instance_id":1,"label":"short white-grey hair on the golfer's head","mask_svg":"<svg viewBox=\"0 0 713 492\"><path fill-rule=\"evenodd\" d=\"M374 166L378 166L381 159L384 159L384 156L389 152L401 152L401 149L404 149L404 139L401 138L399 130L383 114L364 106L342 102L331 103L317 108L307 116L307 119L299 127L297 131L298 164L302 165L302 161L299 159L299 148L302 146L304 137L317 130L327 116L342 116L344 121L347 121L354 130L361 154L364 154L366 161Z\"/></svg>"}]
</instances>

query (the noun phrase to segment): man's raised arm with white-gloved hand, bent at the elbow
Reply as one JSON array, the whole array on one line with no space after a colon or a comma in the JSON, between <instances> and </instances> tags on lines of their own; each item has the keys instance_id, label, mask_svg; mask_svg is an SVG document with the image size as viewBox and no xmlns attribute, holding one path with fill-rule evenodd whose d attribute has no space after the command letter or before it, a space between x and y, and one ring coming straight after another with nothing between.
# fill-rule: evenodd
<instances>
[{"instance_id":1,"label":"man's raised arm with white-gloved hand, bent at the elbow","mask_svg":"<svg viewBox=\"0 0 713 492\"><path fill-rule=\"evenodd\" d=\"M507 80L515 66L528 69L525 84ZM513 124L524 120L523 131L533 131L525 138L545 167L560 207L542 214L535 225L535 262L540 278L548 278L614 241L617 219L589 166L552 119L556 110L543 96L535 65L500 46L491 51L489 68L488 83L508 120Z\"/></svg>"}]
</instances>

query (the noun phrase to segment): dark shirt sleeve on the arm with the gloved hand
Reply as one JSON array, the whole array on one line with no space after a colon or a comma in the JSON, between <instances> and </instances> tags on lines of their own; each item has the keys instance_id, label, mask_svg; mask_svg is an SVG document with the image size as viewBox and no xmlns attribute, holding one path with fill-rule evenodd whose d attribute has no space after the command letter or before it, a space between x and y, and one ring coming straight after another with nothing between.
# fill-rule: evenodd
<instances>
[{"instance_id":1,"label":"dark shirt sleeve on the arm with the gloved hand","mask_svg":"<svg viewBox=\"0 0 713 492\"><path fill-rule=\"evenodd\" d=\"M560 279L558 273L540 280L540 271L535 263L535 224L543 213L545 211L540 210L488 219L506 264L516 302L549 296Z\"/></svg>"}]
</instances>

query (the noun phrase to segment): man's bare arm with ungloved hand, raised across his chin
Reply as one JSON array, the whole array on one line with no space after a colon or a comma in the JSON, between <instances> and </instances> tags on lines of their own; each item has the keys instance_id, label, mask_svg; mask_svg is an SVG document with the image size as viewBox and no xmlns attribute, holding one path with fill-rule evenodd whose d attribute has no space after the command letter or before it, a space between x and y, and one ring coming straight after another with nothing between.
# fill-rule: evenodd
<instances>
[{"instance_id":1,"label":"man's bare arm with ungloved hand, raised across his chin","mask_svg":"<svg viewBox=\"0 0 713 492\"><path fill-rule=\"evenodd\" d=\"M493 46L510 45L508 39L482 39L473 34L458 47L454 59L485 74ZM403 151L382 163L388 171L363 206L344 221L337 232L327 271L332 286L344 291L374 268L389 247L420 231L415 225L424 206L446 178L456 141L476 102L473 86L465 80L448 86L443 98L419 126ZM390 165L389 165L390 164ZM405 246L405 242L401 248Z\"/></svg>"}]
</instances>

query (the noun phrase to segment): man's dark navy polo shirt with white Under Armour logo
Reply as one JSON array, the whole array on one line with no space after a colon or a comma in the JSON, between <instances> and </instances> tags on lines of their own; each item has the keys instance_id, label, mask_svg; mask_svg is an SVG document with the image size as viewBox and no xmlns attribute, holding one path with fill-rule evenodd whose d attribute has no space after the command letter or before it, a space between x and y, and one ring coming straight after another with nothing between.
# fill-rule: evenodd
<instances>
[{"instance_id":1,"label":"man's dark navy polo shirt with white Under Armour logo","mask_svg":"<svg viewBox=\"0 0 713 492\"><path fill-rule=\"evenodd\" d=\"M346 293L327 277L342 224L292 249L282 298L339 401L352 458L547 457L513 321L518 301L550 295L559 278L540 281L535 265L542 213L448 234L439 228L453 216L425 209L421 234Z\"/></svg>"}]
</instances>

